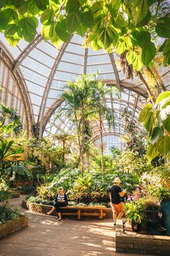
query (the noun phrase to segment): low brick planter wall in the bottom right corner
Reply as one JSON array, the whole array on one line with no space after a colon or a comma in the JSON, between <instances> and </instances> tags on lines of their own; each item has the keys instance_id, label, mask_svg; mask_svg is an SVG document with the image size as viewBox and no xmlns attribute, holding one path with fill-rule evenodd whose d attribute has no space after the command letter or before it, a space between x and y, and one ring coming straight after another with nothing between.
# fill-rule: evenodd
<instances>
[{"instance_id":1,"label":"low brick planter wall in the bottom right corner","mask_svg":"<svg viewBox=\"0 0 170 256\"><path fill-rule=\"evenodd\" d=\"M116 252L170 256L170 237L124 232L123 221L117 220Z\"/></svg>"}]
</instances>

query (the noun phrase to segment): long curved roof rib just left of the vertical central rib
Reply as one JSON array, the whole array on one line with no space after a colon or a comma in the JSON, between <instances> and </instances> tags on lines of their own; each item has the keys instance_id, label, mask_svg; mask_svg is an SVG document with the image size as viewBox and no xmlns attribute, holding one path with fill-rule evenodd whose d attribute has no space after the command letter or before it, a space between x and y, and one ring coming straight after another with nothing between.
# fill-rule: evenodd
<instances>
[{"instance_id":1,"label":"long curved roof rib just left of the vertical central rib","mask_svg":"<svg viewBox=\"0 0 170 256\"><path fill-rule=\"evenodd\" d=\"M71 38L70 38L70 40L71 40ZM49 94L49 91L50 91L50 88L51 88L51 83L53 82L54 75L56 73L56 69L59 66L59 62L61 61L61 58L62 58L62 56L64 54L65 49L67 48L67 46L69 44L69 41L67 43L64 43L61 46L61 49L59 50L59 54L58 54L58 56L57 56L57 58L56 58L56 60L54 62L54 65L51 68L51 73L50 73L50 75L48 77L48 80L47 80L47 83L46 83L46 89L45 89L45 91L43 93L43 98L41 100L41 106L40 106L40 111L38 113L38 122L37 122L37 123L40 123L40 125L39 125L39 129L40 129L39 130L39 138L40 139L41 139L41 137L43 135L43 116L45 114L46 102L47 102L48 94Z\"/></svg>"}]
</instances>

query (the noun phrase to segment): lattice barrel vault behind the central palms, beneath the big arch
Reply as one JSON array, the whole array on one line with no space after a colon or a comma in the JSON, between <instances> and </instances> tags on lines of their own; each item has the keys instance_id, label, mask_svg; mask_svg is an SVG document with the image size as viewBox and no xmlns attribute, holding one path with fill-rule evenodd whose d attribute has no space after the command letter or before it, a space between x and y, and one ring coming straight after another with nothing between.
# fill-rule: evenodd
<instances>
[{"instance_id":1,"label":"lattice barrel vault behind the central palms, beneath the big arch","mask_svg":"<svg viewBox=\"0 0 170 256\"><path fill-rule=\"evenodd\" d=\"M121 111L126 108L132 113L132 120L135 120L135 123L138 123L138 117L140 111L143 109L143 105L146 102L144 96L137 94L136 92L124 88L124 92L121 93L121 101L114 95L107 95L105 102L106 105L114 111L114 126L109 130L108 123L106 120L103 120L103 133L112 134L112 135L122 135L124 134L124 119L121 116ZM69 120L64 114L59 115L61 108L64 107L64 102L59 102L59 106L56 107L55 112L49 120L46 120L44 136L50 136L54 134L63 134L69 133L75 135L75 125ZM99 123L96 120L91 121L93 127L93 141L100 136ZM138 127L140 130L140 127Z\"/></svg>"}]
</instances>

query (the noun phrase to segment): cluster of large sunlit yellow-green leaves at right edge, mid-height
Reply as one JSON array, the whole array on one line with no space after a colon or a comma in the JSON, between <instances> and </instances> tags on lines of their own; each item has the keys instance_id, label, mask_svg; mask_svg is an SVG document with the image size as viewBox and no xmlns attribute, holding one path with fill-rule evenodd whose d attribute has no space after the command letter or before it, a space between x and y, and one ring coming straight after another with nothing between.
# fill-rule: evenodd
<instances>
[{"instance_id":1,"label":"cluster of large sunlit yellow-green leaves at right edge, mid-height","mask_svg":"<svg viewBox=\"0 0 170 256\"><path fill-rule=\"evenodd\" d=\"M156 104L146 104L140 112L140 122L145 125L150 144L147 149L148 160L158 154L169 157L170 152L170 91L159 94Z\"/></svg>"}]
</instances>

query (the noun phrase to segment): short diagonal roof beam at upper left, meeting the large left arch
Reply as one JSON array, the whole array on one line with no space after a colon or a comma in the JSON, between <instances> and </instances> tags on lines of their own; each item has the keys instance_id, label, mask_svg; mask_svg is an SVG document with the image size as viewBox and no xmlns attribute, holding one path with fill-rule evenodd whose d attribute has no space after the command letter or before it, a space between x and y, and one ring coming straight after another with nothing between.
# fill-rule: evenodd
<instances>
[{"instance_id":1,"label":"short diagonal roof beam at upper left, meeting the large left arch","mask_svg":"<svg viewBox=\"0 0 170 256\"><path fill-rule=\"evenodd\" d=\"M15 60L13 72L15 73L22 61L27 57L27 55L30 53L30 51L35 48L41 41L43 40L43 36L38 35L30 44L27 45L24 51L20 54L20 56Z\"/></svg>"}]
</instances>

